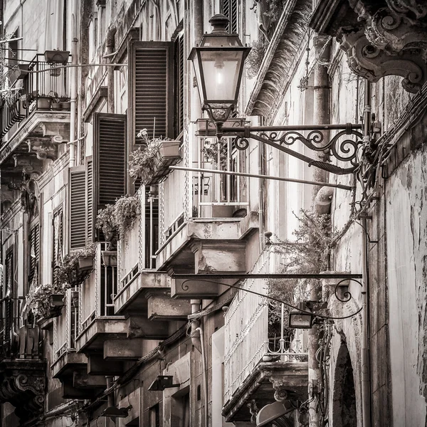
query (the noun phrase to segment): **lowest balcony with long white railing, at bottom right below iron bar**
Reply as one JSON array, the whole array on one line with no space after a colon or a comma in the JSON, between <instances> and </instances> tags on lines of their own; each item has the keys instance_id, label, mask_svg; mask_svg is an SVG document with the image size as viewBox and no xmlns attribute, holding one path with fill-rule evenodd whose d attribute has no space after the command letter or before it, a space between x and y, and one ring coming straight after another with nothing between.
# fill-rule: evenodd
<instances>
[{"instance_id":1,"label":"lowest balcony with long white railing, at bottom right below iron bar","mask_svg":"<svg viewBox=\"0 0 427 427\"><path fill-rule=\"evenodd\" d=\"M253 273L272 273L279 265L277 254L266 251ZM244 287L265 293L265 281L246 280ZM288 396L307 399L307 337L295 330L285 334L282 312L278 322L270 317L267 300L239 291L226 312L223 416L226 421L251 420L248 404L261 408ZM251 406L251 405L249 405Z\"/></svg>"}]
</instances>

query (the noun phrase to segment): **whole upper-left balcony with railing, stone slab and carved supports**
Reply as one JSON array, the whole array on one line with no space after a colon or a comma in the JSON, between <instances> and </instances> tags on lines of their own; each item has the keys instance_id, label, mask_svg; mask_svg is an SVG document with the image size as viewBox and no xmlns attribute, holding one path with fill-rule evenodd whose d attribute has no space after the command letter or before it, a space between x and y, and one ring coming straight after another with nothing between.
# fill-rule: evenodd
<instances>
[{"instance_id":1,"label":"whole upper-left balcony with railing, stone slab and carved supports","mask_svg":"<svg viewBox=\"0 0 427 427\"><path fill-rule=\"evenodd\" d=\"M12 153L55 159L58 144L69 137L70 68L49 70L43 58L33 58L28 64L33 73L19 76L13 85L19 90L1 107L0 164Z\"/></svg>"}]
</instances>

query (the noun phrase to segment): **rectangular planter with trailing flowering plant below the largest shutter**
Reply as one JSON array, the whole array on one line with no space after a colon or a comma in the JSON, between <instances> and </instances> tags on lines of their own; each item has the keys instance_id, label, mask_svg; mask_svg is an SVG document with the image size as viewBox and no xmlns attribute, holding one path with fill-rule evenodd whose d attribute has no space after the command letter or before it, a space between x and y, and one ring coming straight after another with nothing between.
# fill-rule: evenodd
<instances>
[{"instance_id":1,"label":"rectangular planter with trailing flowering plant below the largest shutter","mask_svg":"<svg viewBox=\"0 0 427 427\"><path fill-rule=\"evenodd\" d=\"M149 139L147 129L141 130L137 137L142 137L145 144L130 153L130 176L140 178L144 185L159 184L171 172L169 166L181 159L181 142L169 138Z\"/></svg>"}]
</instances>

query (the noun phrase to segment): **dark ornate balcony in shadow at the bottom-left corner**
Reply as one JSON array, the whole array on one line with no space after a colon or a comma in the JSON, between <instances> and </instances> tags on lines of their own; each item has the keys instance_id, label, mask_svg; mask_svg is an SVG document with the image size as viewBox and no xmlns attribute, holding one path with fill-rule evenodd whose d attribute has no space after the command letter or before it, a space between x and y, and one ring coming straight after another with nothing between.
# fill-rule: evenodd
<instances>
[{"instance_id":1,"label":"dark ornate balcony in shadow at the bottom-left corner","mask_svg":"<svg viewBox=\"0 0 427 427\"><path fill-rule=\"evenodd\" d=\"M16 316L21 300L3 302L0 332L0 403L15 406L21 423L44 410L46 362L41 357L38 327L22 325Z\"/></svg>"}]
</instances>

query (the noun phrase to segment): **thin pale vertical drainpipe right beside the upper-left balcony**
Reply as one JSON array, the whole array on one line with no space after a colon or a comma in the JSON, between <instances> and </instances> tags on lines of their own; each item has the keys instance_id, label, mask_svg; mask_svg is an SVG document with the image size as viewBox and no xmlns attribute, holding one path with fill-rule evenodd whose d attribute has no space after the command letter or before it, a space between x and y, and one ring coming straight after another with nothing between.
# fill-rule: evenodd
<instances>
[{"instance_id":1,"label":"thin pale vertical drainpipe right beside the upper-left balcony","mask_svg":"<svg viewBox=\"0 0 427 427\"><path fill-rule=\"evenodd\" d=\"M73 65L78 64L77 58L77 48L78 48L78 38L77 38L77 23L78 23L78 0L73 0L71 4L71 13L73 15L72 19L72 28L71 33L73 40L71 41L71 60ZM70 160L69 166L75 166L75 122L76 122L76 109L77 109L77 73L78 68L73 67L70 70L70 83L71 83L71 93L70 93Z\"/></svg>"}]
</instances>

